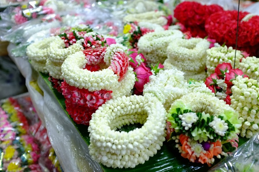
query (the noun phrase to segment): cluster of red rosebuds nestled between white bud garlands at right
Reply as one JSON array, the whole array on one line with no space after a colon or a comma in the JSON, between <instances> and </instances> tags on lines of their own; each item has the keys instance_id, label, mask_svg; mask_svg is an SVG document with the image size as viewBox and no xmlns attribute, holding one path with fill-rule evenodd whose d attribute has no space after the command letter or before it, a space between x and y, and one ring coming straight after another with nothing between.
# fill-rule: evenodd
<instances>
[{"instance_id":1,"label":"cluster of red rosebuds nestled between white bud garlands at right","mask_svg":"<svg viewBox=\"0 0 259 172\"><path fill-rule=\"evenodd\" d=\"M248 77L244 75L242 70L233 69L230 63L222 63L215 68L215 73L206 78L205 84L213 93L226 91L227 97L224 101L230 105L230 96L232 95L231 87L233 86L232 81L239 75ZM227 85L226 90L218 86L217 79L224 80L224 83Z\"/></svg>"}]
</instances>

